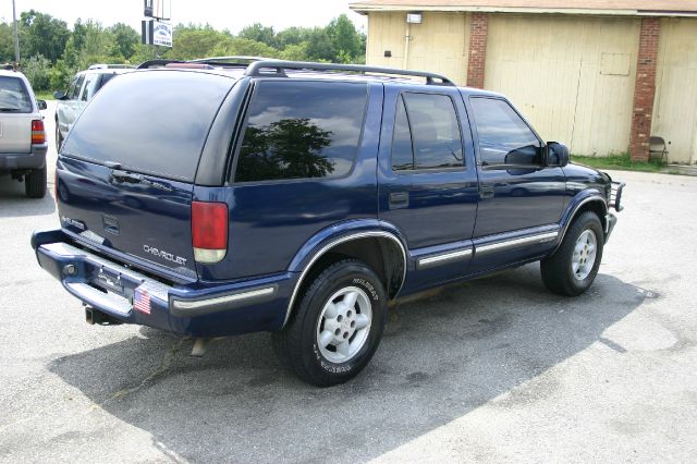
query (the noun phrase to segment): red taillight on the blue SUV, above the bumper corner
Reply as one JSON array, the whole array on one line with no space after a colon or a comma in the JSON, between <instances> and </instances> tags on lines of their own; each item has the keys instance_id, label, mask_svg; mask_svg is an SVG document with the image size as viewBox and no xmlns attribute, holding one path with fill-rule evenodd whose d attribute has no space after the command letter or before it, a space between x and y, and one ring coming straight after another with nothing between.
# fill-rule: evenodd
<instances>
[{"instance_id":1,"label":"red taillight on the blue SUV, above the bumper corner","mask_svg":"<svg viewBox=\"0 0 697 464\"><path fill-rule=\"evenodd\" d=\"M228 205L192 202L192 243L198 262L218 262L228 253Z\"/></svg>"}]
</instances>

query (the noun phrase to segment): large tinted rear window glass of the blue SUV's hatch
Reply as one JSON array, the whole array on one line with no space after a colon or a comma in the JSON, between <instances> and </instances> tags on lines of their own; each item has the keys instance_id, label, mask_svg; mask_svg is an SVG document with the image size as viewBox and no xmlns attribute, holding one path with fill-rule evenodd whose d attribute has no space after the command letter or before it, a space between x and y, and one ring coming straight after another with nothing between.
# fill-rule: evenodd
<instances>
[{"instance_id":1,"label":"large tinted rear window glass of the blue SUV's hatch","mask_svg":"<svg viewBox=\"0 0 697 464\"><path fill-rule=\"evenodd\" d=\"M124 74L85 108L62 154L191 182L233 82L185 71Z\"/></svg>"}]
</instances>

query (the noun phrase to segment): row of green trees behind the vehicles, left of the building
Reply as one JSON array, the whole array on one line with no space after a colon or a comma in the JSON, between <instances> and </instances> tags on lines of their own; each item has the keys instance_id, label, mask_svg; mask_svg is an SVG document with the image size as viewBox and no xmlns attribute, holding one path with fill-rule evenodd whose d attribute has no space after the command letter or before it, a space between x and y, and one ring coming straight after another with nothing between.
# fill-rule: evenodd
<instances>
[{"instance_id":1,"label":"row of green trees behind the vehicles, left of the building","mask_svg":"<svg viewBox=\"0 0 697 464\"><path fill-rule=\"evenodd\" d=\"M138 64L155 58L192 60L216 56L254 56L293 61L365 62L366 37L345 14L326 27L273 27L255 23L236 36L209 25L179 24L170 48L140 45L140 33L127 24L103 27L64 21L36 10L19 20L21 68L36 91L65 89L77 71L96 63ZM13 24L0 22L0 62L14 61Z\"/></svg>"}]
</instances>

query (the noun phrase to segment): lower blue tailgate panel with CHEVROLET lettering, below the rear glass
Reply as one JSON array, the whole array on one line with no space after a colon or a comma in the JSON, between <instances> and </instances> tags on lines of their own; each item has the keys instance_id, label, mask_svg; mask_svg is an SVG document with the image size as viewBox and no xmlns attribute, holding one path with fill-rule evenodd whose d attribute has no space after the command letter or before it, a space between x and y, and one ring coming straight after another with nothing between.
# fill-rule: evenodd
<instances>
[{"instance_id":1,"label":"lower blue tailgate panel with CHEVROLET lettering, below the rear glass","mask_svg":"<svg viewBox=\"0 0 697 464\"><path fill-rule=\"evenodd\" d=\"M115 174L115 176L114 176ZM135 175L131 173L130 175ZM61 227L112 255L148 261L149 268L196 278L191 231L193 185L137 174L124 182L119 171L61 157L58 212Z\"/></svg>"}]
</instances>

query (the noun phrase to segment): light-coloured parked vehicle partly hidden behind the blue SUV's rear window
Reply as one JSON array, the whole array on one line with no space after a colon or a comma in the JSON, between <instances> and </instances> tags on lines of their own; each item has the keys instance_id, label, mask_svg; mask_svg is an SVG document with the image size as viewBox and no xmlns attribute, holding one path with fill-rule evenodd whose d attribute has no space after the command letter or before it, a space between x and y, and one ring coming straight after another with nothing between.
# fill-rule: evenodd
<instances>
[{"instance_id":1,"label":"light-coloured parked vehicle partly hidden behind the blue SUV's rear window","mask_svg":"<svg viewBox=\"0 0 697 464\"><path fill-rule=\"evenodd\" d=\"M73 126L87 101L115 75L132 69L133 66L127 64L93 64L88 70L75 74L68 90L53 93L53 97L58 100L56 108L57 149L60 149L68 131Z\"/></svg>"}]
</instances>

